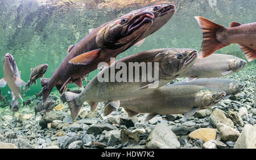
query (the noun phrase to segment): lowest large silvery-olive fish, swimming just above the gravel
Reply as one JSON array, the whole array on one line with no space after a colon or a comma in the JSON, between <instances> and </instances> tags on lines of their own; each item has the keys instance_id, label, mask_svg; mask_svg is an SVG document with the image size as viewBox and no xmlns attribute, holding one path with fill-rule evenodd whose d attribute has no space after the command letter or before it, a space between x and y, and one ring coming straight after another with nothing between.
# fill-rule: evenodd
<instances>
[{"instance_id":1,"label":"lowest large silvery-olive fish, swimming just above the gravel","mask_svg":"<svg viewBox=\"0 0 256 160\"><path fill-rule=\"evenodd\" d=\"M195 114L196 110L206 109L220 102L225 96L222 90L214 90L196 85L166 85L153 92L139 97L120 101L129 116L138 113L148 113L145 121L157 114ZM104 110L105 115L109 113L109 107Z\"/></svg>"}]
</instances>

